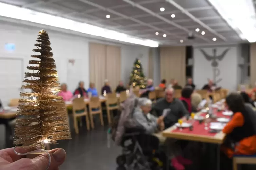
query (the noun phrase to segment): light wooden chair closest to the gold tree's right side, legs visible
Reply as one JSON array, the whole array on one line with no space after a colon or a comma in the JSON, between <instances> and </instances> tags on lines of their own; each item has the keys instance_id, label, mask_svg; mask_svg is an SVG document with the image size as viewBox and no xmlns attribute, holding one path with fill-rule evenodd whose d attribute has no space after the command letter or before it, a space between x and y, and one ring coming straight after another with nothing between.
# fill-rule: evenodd
<instances>
[{"instance_id":1,"label":"light wooden chair closest to the gold tree's right side, legs visible","mask_svg":"<svg viewBox=\"0 0 256 170\"><path fill-rule=\"evenodd\" d=\"M78 111L81 113L78 113ZM74 118L74 129L75 129L76 134L79 133L78 123L77 123L76 118L81 118L82 116L85 116L85 118L86 118L87 130L90 130L88 112L87 112L86 105L84 103L84 98L75 98L73 100L73 118Z\"/></svg>"}]
</instances>

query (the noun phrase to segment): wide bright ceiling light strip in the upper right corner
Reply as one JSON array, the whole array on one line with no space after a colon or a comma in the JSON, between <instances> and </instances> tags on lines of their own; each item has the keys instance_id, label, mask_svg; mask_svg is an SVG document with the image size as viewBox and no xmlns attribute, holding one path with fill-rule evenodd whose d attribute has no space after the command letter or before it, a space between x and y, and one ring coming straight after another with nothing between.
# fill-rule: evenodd
<instances>
[{"instance_id":1,"label":"wide bright ceiling light strip in the upper right corner","mask_svg":"<svg viewBox=\"0 0 256 170\"><path fill-rule=\"evenodd\" d=\"M256 14L253 0L208 0L241 39L256 42Z\"/></svg>"}]
</instances>

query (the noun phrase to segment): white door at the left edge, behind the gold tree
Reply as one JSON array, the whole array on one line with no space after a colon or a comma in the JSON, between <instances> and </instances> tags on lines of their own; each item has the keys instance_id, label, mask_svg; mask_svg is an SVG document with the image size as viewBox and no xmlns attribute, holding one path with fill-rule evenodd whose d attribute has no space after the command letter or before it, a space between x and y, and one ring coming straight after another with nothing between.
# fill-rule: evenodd
<instances>
[{"instance_id":1,"label":"white door at the left edge, behind the gold tree","mask_svg":"<svg viewBox=\"0 0 256 170\"><path fill-rule=\"evenodd\" d=\"M10 99L20 98L23 59L0 57L0 99L7 106Z\"/></svg>"}]
</instances>

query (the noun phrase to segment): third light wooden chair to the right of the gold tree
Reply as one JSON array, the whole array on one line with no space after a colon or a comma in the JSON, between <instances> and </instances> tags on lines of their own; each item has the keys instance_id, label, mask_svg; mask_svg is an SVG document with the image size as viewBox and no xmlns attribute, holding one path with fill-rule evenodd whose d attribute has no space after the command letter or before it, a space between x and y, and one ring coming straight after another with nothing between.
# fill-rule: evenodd
<instances>
[{"instance_id":1,"label":"third light wooden chair to the right of the gold tree","mask_svg":"<svg viewBox=\"0 0 256 170\"><path fill-rule=\"evenodd\" d=\"M111 122L112 122L111 118L112 118L112 116L110 114L110 111L119 109L116 93L107 94L106 106L107 106L106 108L107 108L108 124L111 125Z\"/></svg>"}]
</instances>

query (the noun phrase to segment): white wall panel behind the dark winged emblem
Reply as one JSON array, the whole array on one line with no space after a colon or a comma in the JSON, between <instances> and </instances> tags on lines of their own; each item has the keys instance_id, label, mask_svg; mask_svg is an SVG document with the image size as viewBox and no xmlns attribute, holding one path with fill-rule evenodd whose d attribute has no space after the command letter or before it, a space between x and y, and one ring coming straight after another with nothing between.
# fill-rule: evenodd
<instances>
[{"instance_id":1,"label":"white wall panel behind the dark winged emblem","mask_svg":"<svg viewBox=\"0 0 256 170\"><path fill-rule=\"evenodd\" d=\"M194 49L194 83L198 89L202 88L207 83L208 79L213 79L213 68L211 66L212 60L208 61L200 49L204 50L208 55L213 55L213 49L217 49L217 56L221 55L227 48L229 51L225 57L218 62L218 69L220 75L217 79L222 79L217 85L229 90L236 90L238 83L238 48L237 46L218 46L218 47L196 47Z\"/></svg>"}]
</instances>

